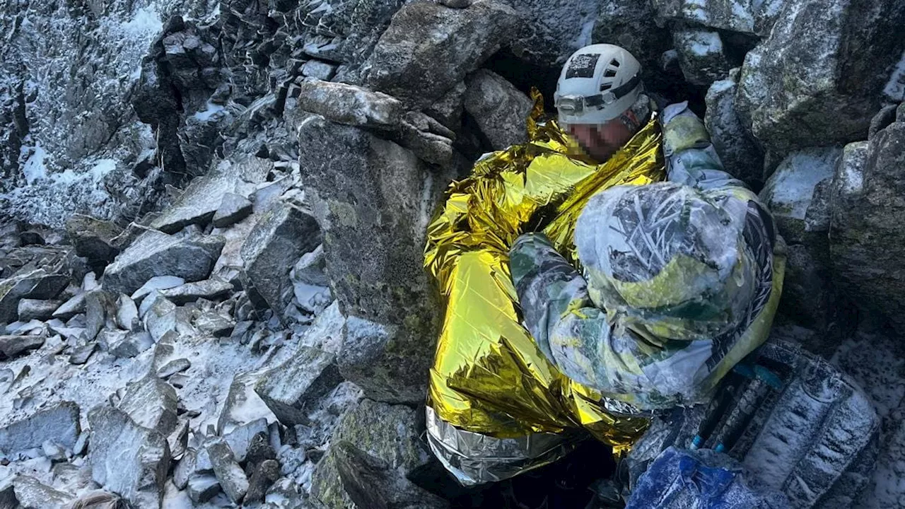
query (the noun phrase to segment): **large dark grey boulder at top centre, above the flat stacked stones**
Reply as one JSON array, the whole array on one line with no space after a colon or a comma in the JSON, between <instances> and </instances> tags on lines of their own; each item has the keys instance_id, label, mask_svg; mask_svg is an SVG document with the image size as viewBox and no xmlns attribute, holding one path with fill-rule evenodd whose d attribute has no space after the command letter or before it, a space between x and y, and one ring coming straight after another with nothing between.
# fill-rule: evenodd
<instances>
[{"instance_id":1,"label":"large dark grey boulder at top centre, above the flat stacked stones","mask_svg":"<svg viewBox=\"0 0 905 509\"><path fill-rule=\"evenodd\" d=\"M380 36L366 85L410 106L430 106L499 50L515 21L508 5L492 0L466 9L407 4Z\"/></svg>"}]
</instances>

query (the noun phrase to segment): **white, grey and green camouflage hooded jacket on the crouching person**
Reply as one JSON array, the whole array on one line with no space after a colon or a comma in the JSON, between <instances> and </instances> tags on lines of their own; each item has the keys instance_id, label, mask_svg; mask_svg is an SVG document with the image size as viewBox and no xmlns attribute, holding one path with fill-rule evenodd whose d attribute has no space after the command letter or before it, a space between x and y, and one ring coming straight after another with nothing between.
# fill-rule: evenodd
<instances>
[{"instance_id":1,"label":"white, grey and green camouflage hooded jacket on the crouching person","mask_svg":"<svg viewBox=\"0 0 905 509\"><path fill-rule=\"evenodd\" d=\"M659 190L645 195L657 200L650 205L651 209L660 212L668 208L660 204L667 204L671 195L683 193L718 211L699 218L695 238L701 245L689 247L690 243L685 241L691 255L670 265L672 273L680 273L671 274L672 287L662 283L660 274L644 274L649 265L646 268L643 263L629 265L628 269L639 273L628 274L629 279L647 278L639 283L646 285L646 293L639 299L648 303L641 309L632 304L637 301L624 297L622 289L622 293L614 292L613 272L625 271L626 267L620 269L594 255L582 255L583 249L588 249L586 246L593 247L597 242L593 235L599 235L601 228L614 227L611 226L613 216L633 213L624 210L630 206L614 209L611 204L608 208L604 200L597 199L604 193L592 197L576 228L576 246L584 274L579 274L559 255L542 234L521 235L510 250L511 275L523 319L539 349L567 377L600 390L605 397L643 410L691 405L709 398L719 379L766 340L781 292L782 267L778 271L779 281L774 281L777 239L773 221L757 201L757 195L723 171L707 131L687 103L665 108L661 122L669 183L654 184L660 186ZM650 217L635 217L633 225L641 228L644 221L650 221ZM708 221L714 222L713 228L708 227ZM717 221L722 230L717 227ZM582 222L596 227L583 230ZM729 231L737 232L738 240L732 239L732 235L707 238L709 231L725 232L727 227L735 228ZM639 236L634 233L625 234L627 244ZM660 237L653 235L653 240L651 235L641 235L646 235L647 245L638 250L647 249L649 254L653 251L651 256L657 256L656 247L651 245L662 242L659 239L664 234L655 234ZM735 278L731 282L733 288L744 288L744 292L705 292L693 305L683 303L681 310L664 311L672 294L710 277L700 275L710 274L699 271L700 266L717 266L721 263L720 253L735 249L746 253L751 269L742 277L729 266L725 277ZM655 281L658 277L659 282ZM746 281L738 283L739 279ZM660 307L658 298L663 301Z\"/></svg>"}]
</instances>

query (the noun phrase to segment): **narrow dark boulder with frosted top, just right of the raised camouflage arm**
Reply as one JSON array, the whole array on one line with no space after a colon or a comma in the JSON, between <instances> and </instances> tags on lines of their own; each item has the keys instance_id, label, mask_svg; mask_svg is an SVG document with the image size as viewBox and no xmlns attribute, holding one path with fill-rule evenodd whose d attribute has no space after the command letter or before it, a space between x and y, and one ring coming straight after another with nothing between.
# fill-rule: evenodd
<instances>
[{"instance_id":1,"label":"narrow dark boulder with frosted top, just right of the raised camouflage arm","mask_svg":"<svg viewBox=\"0 0 905 509\"><path fill-rule=\"evenodd\" d=\"M710 85L705 99L704 125L723 168L733 177L757 188L764 182L764 152L736 112L739 71L733 69L725 80Z\"/></svg>"}]
</instances>

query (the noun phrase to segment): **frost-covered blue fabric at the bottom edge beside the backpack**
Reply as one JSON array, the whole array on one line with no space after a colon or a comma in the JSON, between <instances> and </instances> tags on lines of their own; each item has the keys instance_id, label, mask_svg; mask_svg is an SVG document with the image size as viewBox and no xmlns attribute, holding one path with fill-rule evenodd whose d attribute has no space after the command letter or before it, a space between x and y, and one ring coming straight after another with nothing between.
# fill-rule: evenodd
<instances>
[{"instance_id":1,"label":"frost-covered blue fabric at the bottom edge beside the backpack","mask_svg":"<svg viewBox=\"0 0 905 509\"><path fill-rule=\"evenodd\" d=\"M729 456L669 447L634 486L625 509L790 509Z\"/></svg>"}]
</instances>

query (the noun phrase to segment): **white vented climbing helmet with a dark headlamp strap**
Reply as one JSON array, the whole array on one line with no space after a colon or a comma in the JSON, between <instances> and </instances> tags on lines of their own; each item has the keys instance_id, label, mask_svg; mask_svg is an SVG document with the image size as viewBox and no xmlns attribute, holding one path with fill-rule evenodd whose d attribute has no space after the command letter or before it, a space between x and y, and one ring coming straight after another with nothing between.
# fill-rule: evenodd
<instances>
[{"instance_id":1,"label":"white vented climbing helmet with a dark headlamp strap","mask_svg":"<svg viewBox=\"0 0 905 509\"><path fill-rule=\"evenodd\" d=\"M559 123L603 124L637 101L641 63L613 44L592 44L568 57L553 99Z\"/></svg>"}]
</instances>

